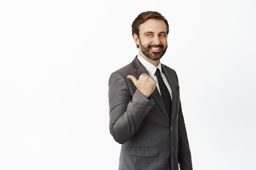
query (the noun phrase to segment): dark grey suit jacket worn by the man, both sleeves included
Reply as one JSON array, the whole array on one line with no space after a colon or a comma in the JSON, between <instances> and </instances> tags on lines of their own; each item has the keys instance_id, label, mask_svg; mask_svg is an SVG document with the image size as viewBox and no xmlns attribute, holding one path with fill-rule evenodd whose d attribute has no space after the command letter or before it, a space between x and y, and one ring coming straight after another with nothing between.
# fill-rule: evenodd
<instances>
[{"instance_id":1,"label":"dark grey suit jacket worn by the man, both sleeves included","mask_svg":"<svg viewBox=\"0 0 256 170\"><path fill-rule=\"evenodd\" d=\"M137 56L109 78L110 133L121 146L119 170L192 170L175 71L162 64L172 88L171 120L157 88L146 98L127 75L148 73Z\"/></svg>"}]
</instances>

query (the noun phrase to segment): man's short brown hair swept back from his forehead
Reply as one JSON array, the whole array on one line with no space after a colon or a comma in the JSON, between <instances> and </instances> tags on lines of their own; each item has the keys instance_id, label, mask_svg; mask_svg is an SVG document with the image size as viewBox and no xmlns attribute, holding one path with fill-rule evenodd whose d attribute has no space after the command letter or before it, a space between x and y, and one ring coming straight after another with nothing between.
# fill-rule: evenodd
<instances>
[{"instance_id":1,"label":"man's short brown hair swept back from his forehead","mask_svg":"<svg viewBox=\"0 0 256 170\"><path fill-rule=\"evenodd\" d=\"M166 18L158 12L147 11L140 13L132 22L132 36L133 34L136 34L139 37L139 25L143 24L148 19L163 20L167 27L166 33L169 33L169 25ZM139 48L139 45L137 45L137 47Z\"/></svg>"}]
</instances>

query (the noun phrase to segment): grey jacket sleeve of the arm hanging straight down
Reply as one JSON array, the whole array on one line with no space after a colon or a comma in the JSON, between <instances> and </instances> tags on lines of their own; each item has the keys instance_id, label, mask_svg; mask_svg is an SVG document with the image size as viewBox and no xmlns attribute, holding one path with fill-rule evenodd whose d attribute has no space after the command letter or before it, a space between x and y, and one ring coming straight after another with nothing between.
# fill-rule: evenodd
<instances>
[{"instance_id":1,"label":"grey jacket sleeve of the arm hanging straight down","mask_svg":"<svg viewBox=\"0 0 256 170\"><path fill-rule=\"evenodd\" d=\"M189 141L186 133L184 117L182 114L181 103L179 107L178 135L179 135L179 151L178 159L180 170L192 170L191 152L189 149Z\"/></svg>"}]
</instances>

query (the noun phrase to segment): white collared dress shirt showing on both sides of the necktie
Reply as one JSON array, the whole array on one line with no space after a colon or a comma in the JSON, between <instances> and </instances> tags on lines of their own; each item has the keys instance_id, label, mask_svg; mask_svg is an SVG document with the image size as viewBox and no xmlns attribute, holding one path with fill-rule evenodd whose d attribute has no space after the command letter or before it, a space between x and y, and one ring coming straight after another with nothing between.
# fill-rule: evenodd
<instances>
[{"instance_id":1,"label":"white collared dress shirt showing on both sides of the necktie","mask_svg":"<svg viewBox=\"0 0 256 170\"><path fill-rule=\"evenodd\" d=\"M173 100L173 96L172 96L172 90L171 90L171 86L168 84L167 79L164 75L164 73L162 73L162 66L161 66L161 62L159 61L158 66L154 66L153 64L151 64L150 62L148 62L147 60L145 60L144 58L142 58L139 54L137 56L138 60L141 62L141 64L146 68L146 70L148 71L149 75L151 77L153 77L156 81L157 81L157 76L155 75L155 71L157 71L157 68L159 68L164 84L166 85L166 87L168 88L168 91L170 92L171 95L171 100ZM159 88L159 84L157 81L157 90L159 91L160 95L161 95L161 91Z\"/></svg>"}]
</instances>

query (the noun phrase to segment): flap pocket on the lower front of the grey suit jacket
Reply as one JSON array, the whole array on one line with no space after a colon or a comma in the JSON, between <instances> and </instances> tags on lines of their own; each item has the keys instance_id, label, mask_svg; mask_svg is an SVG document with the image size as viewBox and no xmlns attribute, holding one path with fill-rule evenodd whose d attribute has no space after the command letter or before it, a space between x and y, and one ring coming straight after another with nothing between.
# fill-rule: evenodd
<instances>
[{"instance_id":1,"label":"flap pocket on the lower front of the grey suit jacket","mask_svg":"<svg viewBox=\"0 0 256 170\"><path fill-rule=\"evenodd\" d=\"M158 148L130 147L129 154L135 157L157 157Z\"/></svg>"}]
</instances>

